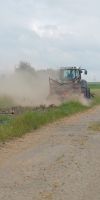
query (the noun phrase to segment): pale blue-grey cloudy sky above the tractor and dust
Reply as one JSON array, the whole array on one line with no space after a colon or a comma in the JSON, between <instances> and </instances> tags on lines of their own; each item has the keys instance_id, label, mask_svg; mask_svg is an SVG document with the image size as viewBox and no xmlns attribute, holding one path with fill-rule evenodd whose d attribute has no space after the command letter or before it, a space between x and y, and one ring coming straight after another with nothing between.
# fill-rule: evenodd
<instances>
[{"instance_id":1,"label":"pale blue-grey cloudy sky above the tractor and dust","mask_svg":"<svg viewBox=\"0 0 100 200\"><path fill-rule=\"evenodd\" d=\"M99 80L99 0L0 0L0 71L81 66Z\"/></svg>"}]
</instances>

